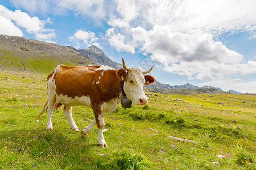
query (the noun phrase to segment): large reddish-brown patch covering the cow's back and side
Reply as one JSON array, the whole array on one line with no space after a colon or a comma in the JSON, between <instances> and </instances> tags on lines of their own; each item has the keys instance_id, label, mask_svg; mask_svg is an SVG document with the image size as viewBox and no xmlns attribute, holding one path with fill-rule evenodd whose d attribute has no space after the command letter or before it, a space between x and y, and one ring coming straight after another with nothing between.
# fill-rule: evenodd
<instances>
[{"instance_id":1,"label":"large reddish-brown patch covering the cow's back and side","mask_svg":"<svg viewBox=\"0 0 256 170\"><path fill-rule=\"evenodd\" d=\"M116 75L117 70L96 70L98 68L100 66L61 65L55 78L56 94L73 99L89 96L92 105L101 105L119 97L121 84Z\"/></svg>"}]
</instances>

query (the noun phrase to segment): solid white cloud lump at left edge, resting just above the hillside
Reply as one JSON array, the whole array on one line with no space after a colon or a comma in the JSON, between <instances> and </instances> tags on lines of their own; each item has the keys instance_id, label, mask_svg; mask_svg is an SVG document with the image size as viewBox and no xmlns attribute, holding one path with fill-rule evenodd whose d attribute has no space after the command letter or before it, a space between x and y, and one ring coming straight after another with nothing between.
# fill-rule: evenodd
<instances>
[{"instance_id":1,"label":"solid white cloud lump at left edge, resting just above the hillside","mask_svg":"<svg viewBox=\"0 0 256 170\"><path fill-rule=\"evenodd\" d=\"M11 20L0 16L0 34L13 35L13 36L23 36L22 31L16 27Z\"/></svg>"}]
</instances>

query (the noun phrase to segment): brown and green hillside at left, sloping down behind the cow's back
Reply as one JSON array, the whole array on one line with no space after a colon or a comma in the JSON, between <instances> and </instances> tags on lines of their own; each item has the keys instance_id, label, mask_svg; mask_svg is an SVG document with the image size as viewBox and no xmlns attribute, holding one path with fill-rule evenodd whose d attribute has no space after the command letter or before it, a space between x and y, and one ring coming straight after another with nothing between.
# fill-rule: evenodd
<instances>
[{"instance_id":1,"label":"brown and green hillside at left, sloping down behind the cow's back","mask_svg":"<svg viewBox=\"0 0 256 170\"><path fill-rule=\"evenodd\" d=\"M48 73L57 65L88 65L92 61L72 46L0 35L0 67Z\"/></svg>"}]
</instances>

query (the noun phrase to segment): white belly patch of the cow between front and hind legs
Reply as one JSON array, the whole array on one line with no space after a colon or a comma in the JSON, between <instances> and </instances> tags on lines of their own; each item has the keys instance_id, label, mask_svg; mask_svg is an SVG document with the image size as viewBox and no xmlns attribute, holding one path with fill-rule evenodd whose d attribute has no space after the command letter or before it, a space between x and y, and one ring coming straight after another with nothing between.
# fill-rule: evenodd
<instances>
[{"instance_id":1,"label":"white belly patch of the cow between front and hind legs","mask_svg":"<svg viewBox=\"0 0 256 170\"><path fill-rule=\"evenodd\" d=\"M56 100L60 101L60 103L64 105L70 105L70 106L75 106L75 105L86 105L88 107L91 107L90 105L90 97L88 96L81 96L81 97L68 97L67 95L56 95Z\"/></svg>"}]
</instances>

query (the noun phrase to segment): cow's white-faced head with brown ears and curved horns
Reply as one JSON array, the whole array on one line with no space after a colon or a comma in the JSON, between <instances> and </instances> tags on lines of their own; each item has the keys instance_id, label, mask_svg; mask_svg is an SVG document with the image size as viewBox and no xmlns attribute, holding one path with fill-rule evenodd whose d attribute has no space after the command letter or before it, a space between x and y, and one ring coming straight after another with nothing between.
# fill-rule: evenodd
<instances>
[{"instance_id":1,"label":"cow's white-faced head with brown ears and curved horns","mask_svg":"<svg viewBox=\"0 0 256 170\"><path fill-rule=\"evenodd\" d=\"M116 74L123 81L123 90L127 98L133 101L134 104L147 104L147 96L144 94L143 86L154 83L155 78L147 74L152 70L143 71L138 67L126 67L123 59L123 69L118 69Z\"/></svg>"}]
</instances>

